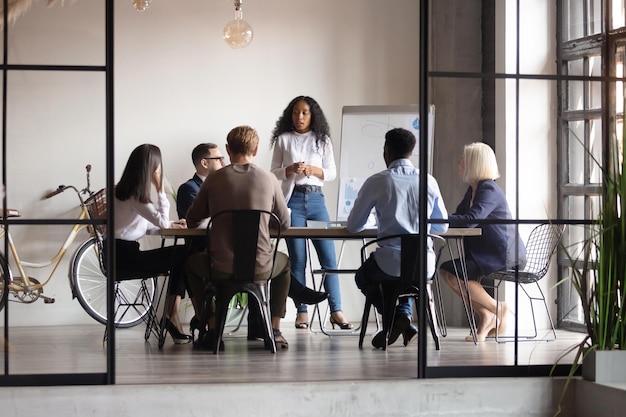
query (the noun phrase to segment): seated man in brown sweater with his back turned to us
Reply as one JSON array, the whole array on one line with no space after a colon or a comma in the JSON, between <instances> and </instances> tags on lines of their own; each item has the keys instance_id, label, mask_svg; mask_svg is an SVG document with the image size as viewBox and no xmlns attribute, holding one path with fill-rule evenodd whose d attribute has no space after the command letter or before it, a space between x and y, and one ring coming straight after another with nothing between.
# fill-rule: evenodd
<instances>
[{"instance_id":1,"label":"seated man in brown sweater with his back turned to us","mask_svg":"<svg viewBox=\"0 0 626 417\"><path fill-rule=\"evenodd\" d=\"M281 228L290 224L289 210L282 195L278 180L274 175L256 166L253 161L258 151L259 135L249 126L238 126L227 136L226 151L231 164L209 176L187 212L188 227L197 227L200 222L220 211L236 209L267 210L276 214ZM216 227L214 227L216 229ZM232 274L232 253L227 249L230 229L211 230L212 275L227 278ZM204 294L205 279L208 278L207 252L189 257L187 273L189 285L194 294ZM288 344L280 332L280 320L285 316L286 301L290 284L290 263L286 254L279 252L273 273L270 275L273 248L269 236L269 225L259 226L259 252L255 274L259 279L271 279L270 311L276 347L287 349ZM213 320L207 323L209 332L204 344L207 348L215 345Z\"/></svg>"}]
</instances>

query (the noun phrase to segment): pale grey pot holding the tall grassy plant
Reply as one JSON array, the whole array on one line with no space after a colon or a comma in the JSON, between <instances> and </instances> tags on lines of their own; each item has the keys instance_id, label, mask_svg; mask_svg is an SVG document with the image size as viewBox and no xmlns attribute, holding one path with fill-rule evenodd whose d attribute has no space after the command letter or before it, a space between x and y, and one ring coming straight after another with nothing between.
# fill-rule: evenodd
<instances>
[{"instance_id":1,"label":"pale grey pot holding the tall grassy plant","mask_svg":"<svg viewBox=\"0 0 626 417\"><path fill-rule=\"evenodd\" d=\"M594 350L583 359L583 378L599 383L626 382L626 350Z\"/></svg>"}]
</instances>

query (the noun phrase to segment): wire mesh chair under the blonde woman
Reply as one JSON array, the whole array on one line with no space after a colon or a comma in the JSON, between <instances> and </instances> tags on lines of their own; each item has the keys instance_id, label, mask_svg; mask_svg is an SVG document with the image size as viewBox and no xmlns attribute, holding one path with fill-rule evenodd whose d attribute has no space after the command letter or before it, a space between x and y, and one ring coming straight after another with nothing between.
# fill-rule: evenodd
<instances>
[{"instance_id":1,"label":"wire mesh chair under the blonde woman","mask_svg":"<svg viewBox=\"0 0 626 417\"><path fill-rule=\"evenodd\" d=\"M557 246L563 235L563 231L565 230L565 225L559 224L550 224L544 223L535 227L528 237L528 241L526 242L526 265L523 269L520 269L517 274L515 273L515 269L503 269L500 271L496 271L486 277L481 279L481 283L484 280L493 280L492 287L495 288L496 294L496 302L498 309L500 302L498 301L498 289L500 284L504 281L508 282L516 282L519 285L519 288L522 289L524 294L528 297L530 302L530 309L533 316L533 334L530 335L518 335L518 338L522 339L535 339L537 337L537 320L535 318L535 309L533 306L534 301L541 301L546 309L546 313L548 315L548 320L550 320L550 328L552 330L552 339L543 339L546 341L551 341L556 339L556 330L554 329L554 322L552 321L552 316L550 315L550 309L548 308L548 304L546 303L546 297L541 290L541 286L539 285L539 281L546 276L548 273L548 268L550 267L550 261L552 259L552 255L556 252ZM533 285L534 284L534 285ZM485 286L491 286L489 284ZM531 286L530 289L527 287ZM535 287L532 289L532 287ZM498 312L496 311L496 328L498 328ZM496 341L506 341L507 339L512 339L514 336L499 336L496 332Z\"/></svg>"}]
</instances>

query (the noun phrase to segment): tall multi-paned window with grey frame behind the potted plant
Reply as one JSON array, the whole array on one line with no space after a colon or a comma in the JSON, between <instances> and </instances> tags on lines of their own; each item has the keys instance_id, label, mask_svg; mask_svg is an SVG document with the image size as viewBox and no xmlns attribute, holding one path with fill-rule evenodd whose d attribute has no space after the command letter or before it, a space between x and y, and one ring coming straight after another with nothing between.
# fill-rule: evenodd
<instances>
[{"instance_id":1,"label":"tall multi-paned window with grey frame behind the potted plant","mask_svg":"<svg viewBox=\"0 0 626 417\"><path fill-rule=\"evenodd\" d=\"M602 192L602 166L609 141L620 141L624 109L624 86L611 79L623 77L626 52L624 0L561 0L559 37L559 217L581 224L571 225L566 245L571 254L582 252L590 226L597 218ZM609 13L608 19L602 10ZM606 30L608 21L610 30ZM607 74L602 73L606 65ZM608 78L607 78L608 77ZM576 262L562 260L562 276L570 276ZM565 282L559 293L559 324L584 325L576 292Z\"/></svg>"}]
</instances>

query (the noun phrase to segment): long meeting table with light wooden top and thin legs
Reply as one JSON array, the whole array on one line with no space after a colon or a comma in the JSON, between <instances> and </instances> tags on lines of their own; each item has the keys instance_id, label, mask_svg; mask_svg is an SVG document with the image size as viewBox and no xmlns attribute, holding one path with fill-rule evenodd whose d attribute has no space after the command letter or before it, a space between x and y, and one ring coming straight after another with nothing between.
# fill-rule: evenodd
<instances>
[{"instance_id":1,"label":"long meeting table with light wooden top and thin legs","mask_svg":"<svg viewBox=\"0 0 626 417\"><path fill-rule=\"evenodd\" d=\"M308 240L315 239L331 239L338 241L348 241L348 240L367 240L367 239L375 239L377 237L377 229L365 229L358 233L351 233L344 226L332 226L332 222L329 223L329 227L290 227L286 230L281 231L281 238L303 238ZM198 236L206 236L206 228L192 228L192 229L161 229L160 232L163 238L184 238L184 237L198 237ZM270 234L272 237L276 237L277 233L275 231L270 230ZM458 279L459 290L461 290L461 285L464 286L465 291L461 291L461 294L464 296L461 297L463 301L463 307L465 309L465 314L467 316L467 320L469 322L470 331L474 338L474 343L478 343L476 338L476 322L474 319L472 303L467 294L469 293L469 283L467 279L467 270L464 262L464 249L463 249L463 239L469 236L480 236L482 234L482 230L480 228L448 228L448 230L444 233L433 233L435 235L441 236L445 239L448 252L451 258L454 258L454 253L459 256L461 259L460 265L458 266L460 270L457 271L456 276ZM455 248L455 249L453 249ZM339 266L341 263L341 257L343 253L343 246L341 248L341 253L338 257L338 266L336 270L333 272L336 273L352 273L353 269L342 269ZM310 259L310 256L309 256ZM457 266L455 265L455 268ZM322 270L313 270L310 267L311 273L324 273ZM314 283L315 285L315 283ZM321 287L321 283L320 283ZM315 316L315 315L313 315ZM318 318L320 321L320 330L329 335L328 332L324 331L324 326L322 325L321 317Z\"/></svg>"}]
</instances>

